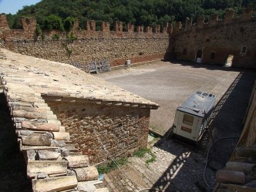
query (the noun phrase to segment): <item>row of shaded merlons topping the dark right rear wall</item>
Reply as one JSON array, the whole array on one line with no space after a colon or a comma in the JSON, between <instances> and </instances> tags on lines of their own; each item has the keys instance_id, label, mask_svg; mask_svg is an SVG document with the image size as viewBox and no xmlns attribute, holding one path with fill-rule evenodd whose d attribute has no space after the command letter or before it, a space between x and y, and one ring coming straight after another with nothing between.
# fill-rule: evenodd
<instances>
[{"instance_id":1,"label":"row of shaded merlons topping the dark right rear wall","mask_svg":"<svg viewBox=\"0 0 256 192\"><path fill-rule=\"evenodd\" d=\"M253 9L252 8L245 8L243 14L239 18L234 18L234 9L227 8L225 12L224 19L219 19L217 14L213 14L210 16L209 22L204 22L204 17L198 17L197 23L192 24L193 21L190 18L186 18L184 28L181 25L181 22L177 22L175 27L173 28L174 34L180 32L190 32L196 31L198 29L209 28L217 25L228 25L228 24L235 24L241 22L250 22L254 19L252 16Z\"/></svg>"}]
</instances>

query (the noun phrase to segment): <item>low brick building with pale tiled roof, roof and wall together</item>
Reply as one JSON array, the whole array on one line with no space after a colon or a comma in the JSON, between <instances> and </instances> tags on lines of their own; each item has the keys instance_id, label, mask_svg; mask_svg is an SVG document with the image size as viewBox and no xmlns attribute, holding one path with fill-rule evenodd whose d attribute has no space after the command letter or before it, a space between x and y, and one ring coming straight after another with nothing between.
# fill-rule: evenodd
<instances>
[{"instance_id":1,"label":"low brick building with pale tiled roof, roof and wall together","mask_svg":"<svg viewBox=\"0 0 256 192\"><path fill-rule=\"evenodd\" d=\"M0 56L1 84L34 191L87 191L100 183L89 164L147 147L156 103L74 66L4 49Z\"/></svg>"}]
</instances>

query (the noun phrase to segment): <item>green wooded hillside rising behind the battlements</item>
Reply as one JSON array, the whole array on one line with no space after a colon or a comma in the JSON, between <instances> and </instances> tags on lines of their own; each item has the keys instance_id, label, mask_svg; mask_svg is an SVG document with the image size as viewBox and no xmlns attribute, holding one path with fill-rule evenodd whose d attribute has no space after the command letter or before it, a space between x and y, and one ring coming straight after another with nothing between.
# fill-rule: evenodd
<instances>
[{"instance_id":1,"label":"green wooded hillside rising behind the battlements","mask_svg":"<svg viewBox=\"0 0 256 192\"><path fill-rule=\"evenodd\" d=\"M45 18L56 15L62 21L67 17L79 20L79 27L85 28L86 20L95 20L99 30L100 23L106 21L113 29L113 23L122 21L134 25L155 26L166 22L182 21L186 17L196 19L205 15L206 20L213 13L224 17L225 8L234 8L237 15L244 7L255 9L256 0L42 0L36 5L25 6L17 14L8 14L12 29L20 29L21 17L35 17L42 29Z\"/></svg>"}]
</instances>

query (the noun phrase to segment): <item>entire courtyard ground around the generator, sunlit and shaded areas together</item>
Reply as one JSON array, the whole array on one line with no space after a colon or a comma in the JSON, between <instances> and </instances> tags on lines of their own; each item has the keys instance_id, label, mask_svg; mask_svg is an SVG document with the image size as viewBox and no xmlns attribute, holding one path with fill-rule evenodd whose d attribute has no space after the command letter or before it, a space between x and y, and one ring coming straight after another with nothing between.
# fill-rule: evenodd
<instances>
[{"instance_id":1,"label":"entire courtyard ground around the generator, sunlit and shaded areas together","mask_svg":"<svg viewBox=\"0 0 256 192\"><path fill-rule=\"evenodd\" d=\"M235 137L240 136L256 72L253 69L160 61L97 76L158 103L160 108L151 112L150 130L163 136L152 147L157 157L153 163L130 157L130 163L123 170L106 174L105 184L113 191L211 191L216 171L227 162L237 143ZM217 103L210 129L199 147L189 147L166 136L173 125L177 106L197 90L215 94ZM220 140L224 137L227 139ZM211 143L214 145L205 172L209 190L203 173Z\"/></svg>"}]
</instances>

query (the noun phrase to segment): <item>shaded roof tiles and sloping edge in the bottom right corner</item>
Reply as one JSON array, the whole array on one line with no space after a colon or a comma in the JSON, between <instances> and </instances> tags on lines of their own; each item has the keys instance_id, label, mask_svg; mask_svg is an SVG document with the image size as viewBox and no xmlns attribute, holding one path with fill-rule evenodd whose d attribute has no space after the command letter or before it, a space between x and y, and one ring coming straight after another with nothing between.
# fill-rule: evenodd
<instances>
[{"instance_id":1,"label":"shaded roof tiles and sloping edge in the bottom right corner","mask_svg":"<svg viewBox=\"0 0 256 192\"><path fill-rule=\"evenodd\" d=\"M256 191L256 83L244 129L230 160L216 173L214 192Z\"/></svg>"}]
</instances>

